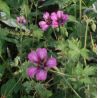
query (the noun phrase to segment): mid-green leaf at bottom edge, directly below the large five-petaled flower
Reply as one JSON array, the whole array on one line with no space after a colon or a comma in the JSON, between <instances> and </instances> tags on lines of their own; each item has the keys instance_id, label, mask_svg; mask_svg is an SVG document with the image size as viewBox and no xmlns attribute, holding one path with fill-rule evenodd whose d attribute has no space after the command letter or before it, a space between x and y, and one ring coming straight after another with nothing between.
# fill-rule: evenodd
<instances>
[{"instance_id":1,"label":"mid-green leaf at bottom edge, directly below the large five-petaled flower","mask_svg":"<svg viewBox=\"0 0 98 98\"><path fill-rule=\"evenodd\" d=\"M52 92L47 90L43 84L37 83L35 90L39 94L40 98L49 98L52 96Z\"/></svg>"}]
</instances>

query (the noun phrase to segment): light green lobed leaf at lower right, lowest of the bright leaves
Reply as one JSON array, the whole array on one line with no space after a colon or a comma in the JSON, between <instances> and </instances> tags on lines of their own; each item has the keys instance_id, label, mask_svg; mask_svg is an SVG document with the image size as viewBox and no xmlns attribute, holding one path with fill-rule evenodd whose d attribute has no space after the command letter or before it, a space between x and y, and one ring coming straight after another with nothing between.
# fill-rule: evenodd
<instances>
[{"instance_id":1,"label":"light green lobed leaf at lower right, lowest of the bright leaves","mask_svg":"<svg viewBox=\"0 0 98 98\"><path fill-rule=\"evenodd\" d=\"M85 83L85 84L91 84L92 78L89 77L91 75L95 75L96 68L93 66L86 66L83 68L83 65L81 63L78 63L75 68L73 68L72 74L76 77L76 81L80 83Z\"/></svg>"}]
</instances>

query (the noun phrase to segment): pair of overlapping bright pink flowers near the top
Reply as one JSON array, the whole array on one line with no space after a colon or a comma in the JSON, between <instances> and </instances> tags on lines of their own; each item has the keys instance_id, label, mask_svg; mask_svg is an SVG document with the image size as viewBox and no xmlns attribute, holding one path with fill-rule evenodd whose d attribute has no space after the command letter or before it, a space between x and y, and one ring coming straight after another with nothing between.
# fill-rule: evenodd
<instances>
[{"instance_id":1,"label":"pair of overlapping bright pink flowers near the top","mask_svg":"<svg viewBox=\"0 0 98 98\"><path fill-rule=\"evenodd\" d=\"M68 14L64 14L63 11L52 12L51 14L45 12L43 19L43 21L39 22L39 26L43 31L46 31L50 26L57 28L60 25L64 25L68 20Z\"/></svg>"}]
</instances>

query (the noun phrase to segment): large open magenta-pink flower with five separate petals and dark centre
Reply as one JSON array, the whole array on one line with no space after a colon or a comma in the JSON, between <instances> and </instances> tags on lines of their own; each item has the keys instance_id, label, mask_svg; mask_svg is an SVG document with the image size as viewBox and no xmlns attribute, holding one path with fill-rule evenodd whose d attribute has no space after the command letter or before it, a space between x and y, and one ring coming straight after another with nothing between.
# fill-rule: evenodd
<instances>
[{"instance_id":1,"label":"large open magenta-pink flower with five separate petals and dark centre","mask_svg":"<svg viewBox=\"0 0 98 98\"><path fill-rule=\"evenodd\" d=\"M28 54L28 60L36 66L30 66L27 69L27 75L30 78L36 77L38 81L47 79L47 71L57 66L57 60L54 57L48 57L46 48L38 48Z\"/></svg>"}]
</instances>

